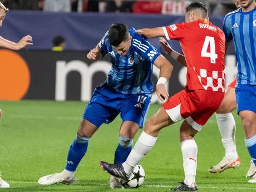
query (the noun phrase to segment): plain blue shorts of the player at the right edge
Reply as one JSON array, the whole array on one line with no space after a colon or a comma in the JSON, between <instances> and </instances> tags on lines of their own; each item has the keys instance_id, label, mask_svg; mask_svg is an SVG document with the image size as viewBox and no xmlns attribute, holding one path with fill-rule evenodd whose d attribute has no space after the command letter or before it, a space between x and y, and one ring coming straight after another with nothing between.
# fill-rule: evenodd
<instances>
[{"instance_id":1,"label":"plain blue shorts of the player at the right edge","mask_svg":"<svg viewBox=\"0 0 256 192\"><path fill-rule=\"evenodd\" d=\"M237 99L237 113L240 111L253 111L256 113L256 85L239 84L235 87Z\"/></svg>"}]
</instances>

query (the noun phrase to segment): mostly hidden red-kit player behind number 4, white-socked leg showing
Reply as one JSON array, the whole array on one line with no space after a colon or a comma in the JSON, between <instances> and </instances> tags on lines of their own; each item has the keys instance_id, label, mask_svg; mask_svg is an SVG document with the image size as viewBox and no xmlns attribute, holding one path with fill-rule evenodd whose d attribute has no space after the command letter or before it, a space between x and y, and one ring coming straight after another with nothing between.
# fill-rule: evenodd
<instances>
[{"instance_id":1,"label":"mostly hidden red-kit player behind number 4, white-socked leg showing","mask_svg":"<svg viewBox=\"0 0 256 192\"><path fill-rule=\"evenodd\" d=\"M233 0L235 6L240 8L239 0ZM184 55L174 51L164 38L160 38L161 46L163 46L167 55L174 57L178 62L186 62ZM227 51L228 46L225 46ZM235 84L237 83L237 77L228 85L225 96L219 109L216 111L216 119L220 134L222 137L223 146L225 149L225 156L219 164L209 168L210 173L221 173L229 168L238 168L240 166L240 158L237 153L237 146L235 145L235 120L232 115L232 111L237 108L235 101ZM247 178L256 177L256 167L251 162L250 169L247 174Z\"/></svg>"}]
</instances>

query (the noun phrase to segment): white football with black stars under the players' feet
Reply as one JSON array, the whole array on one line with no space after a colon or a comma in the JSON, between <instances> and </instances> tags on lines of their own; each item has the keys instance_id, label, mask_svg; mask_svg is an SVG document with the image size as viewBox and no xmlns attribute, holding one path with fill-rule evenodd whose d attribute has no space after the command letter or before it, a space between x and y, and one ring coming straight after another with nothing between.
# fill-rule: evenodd
<instances>
[{"instance_id":1,"label":"white football with black stars under the players' feet","mask_svg":"<svg viewBox=\"0 0 256 192\"><path fill-rule=\"evenodd\" d=\"M122 185L125 188L139 188L144 183L145 180L145 171L141 165L136 165L132 169L131 175L125 183Z\"/></svg>"}]
</instances>

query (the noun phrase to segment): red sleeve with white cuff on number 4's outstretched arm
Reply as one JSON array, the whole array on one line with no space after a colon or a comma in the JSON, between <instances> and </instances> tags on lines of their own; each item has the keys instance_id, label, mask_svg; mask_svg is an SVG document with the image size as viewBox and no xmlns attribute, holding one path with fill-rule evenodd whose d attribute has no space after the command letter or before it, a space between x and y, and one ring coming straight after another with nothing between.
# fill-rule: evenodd
<instances>
[{"instance_id":1,"label":"red sleeve with white cuff on number 4's outstretched arm","mask_svg":"<svg viewBox=\"0 0 256 192\"><path fill-rule=\"evenodd\" d=\"M163 27L165 37L168 40L180 40L184 37L185 23L172 24L170 26Z\"/></svg>"}]
</instances>

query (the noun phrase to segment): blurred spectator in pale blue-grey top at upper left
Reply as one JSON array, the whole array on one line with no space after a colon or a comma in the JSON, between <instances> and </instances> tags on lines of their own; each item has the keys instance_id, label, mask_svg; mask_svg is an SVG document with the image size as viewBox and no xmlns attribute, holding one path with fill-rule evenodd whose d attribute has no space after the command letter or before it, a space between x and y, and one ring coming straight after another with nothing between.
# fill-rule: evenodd
<instances>
[{"instance_id":1,"label":"blurred spectator in pale blue-grey top at upper left","mask_svg":"<svg viewBox=\"0 0 256 192\"><path fill-rule=\"evenodd\" d=\"M43 11L71 12L71 1L70 0L45 0L43 2Z\"/></svg>"}]
</instances>

